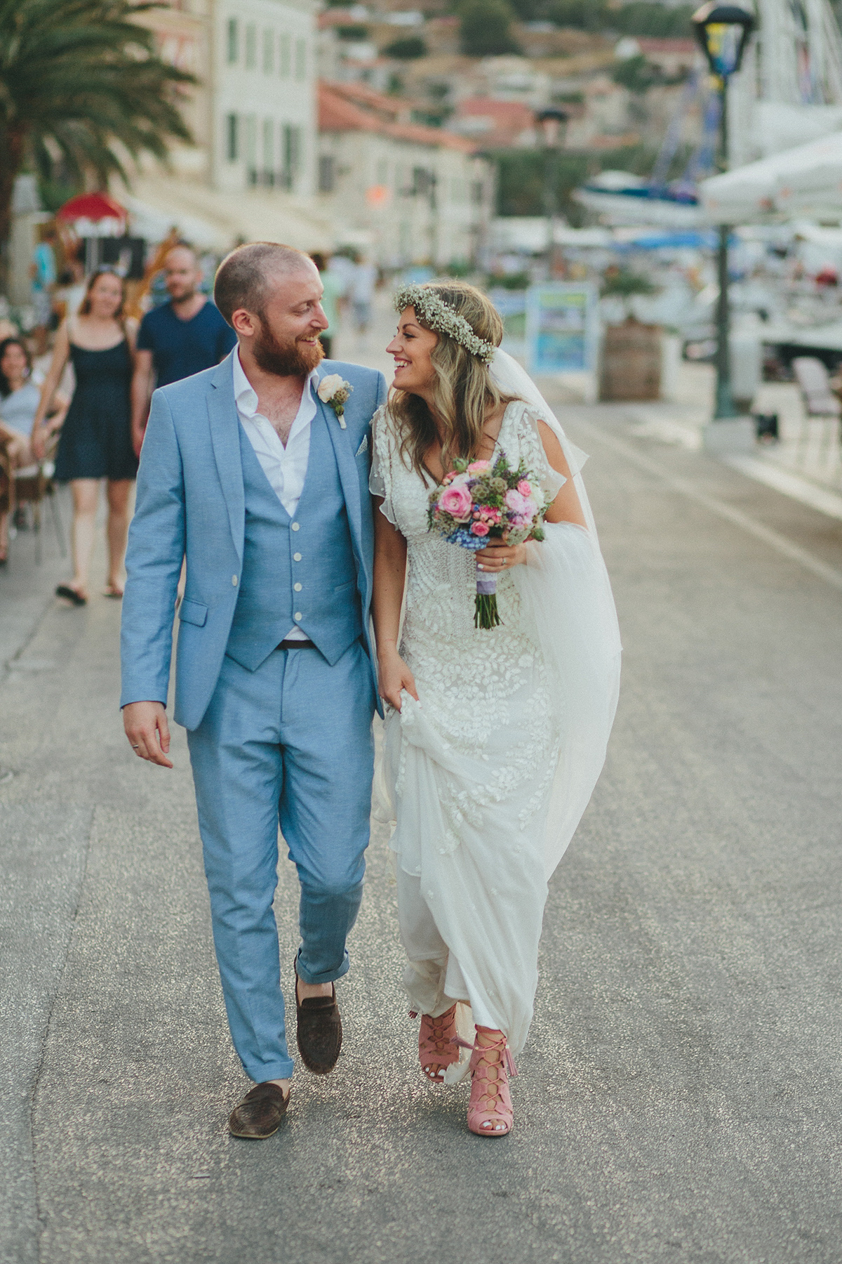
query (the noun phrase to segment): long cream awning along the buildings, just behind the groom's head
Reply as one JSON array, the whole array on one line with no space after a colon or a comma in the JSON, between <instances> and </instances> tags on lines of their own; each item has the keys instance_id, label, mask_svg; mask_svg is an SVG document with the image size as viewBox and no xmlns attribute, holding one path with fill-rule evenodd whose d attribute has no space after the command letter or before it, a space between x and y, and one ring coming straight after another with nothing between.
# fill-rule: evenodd
<instances>
[{"instance_id":1,"label":"long cream awning along the buildings, just behind the groom's head","mask_svg":"<svg viewBox=\"0 0 842 1264\"><path fill-rule=\"evenodd\" d=\"M119 192L131 231L162 241L172 228L199 249L230 250L239 240L283 241L298 250L329 250L333 228L323 214L289 193L225 193L170 176L138 177Z\"/></svg>"}]
</instances>

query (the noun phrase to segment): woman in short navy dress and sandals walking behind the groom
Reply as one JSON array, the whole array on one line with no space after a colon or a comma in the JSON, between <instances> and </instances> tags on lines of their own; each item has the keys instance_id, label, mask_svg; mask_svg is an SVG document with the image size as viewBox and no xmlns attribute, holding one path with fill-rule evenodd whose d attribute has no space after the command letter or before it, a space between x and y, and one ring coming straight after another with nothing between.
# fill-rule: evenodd
<instances>
[{"instance_id":1,"label":"woman in short navy dress and sandals walking behind the groom","mask_svg":"<svg viewBox=\"0 0 842 1264\"><path fill-rule=\"evenodd\" d=\"M44 451L43 425L67 360L73 363L76 391L67 411L56 456L56 479L73 493L73 578L56 589L74 605L88 599L88 570L100 483L107 479L109 578L106 597L122 597L122 559L129 532L129 494L138 471L131 446L130 387L136 322L122 315L124 287L111 270L95 273L78 315L56 335L53 363L42 388L33 426L33 449Z\"/></svg>"}]
</instances>

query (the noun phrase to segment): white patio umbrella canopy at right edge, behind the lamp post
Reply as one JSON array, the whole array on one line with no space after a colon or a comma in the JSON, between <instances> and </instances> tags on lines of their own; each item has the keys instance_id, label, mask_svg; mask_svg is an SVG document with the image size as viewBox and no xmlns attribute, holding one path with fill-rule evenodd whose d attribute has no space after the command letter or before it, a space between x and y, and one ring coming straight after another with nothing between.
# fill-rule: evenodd
<instances>
[{"instance_id":1,"label":"white patio umbrella canopy at right edge, behind the lamp post","mask_svg":"<svg viewBox=\"0 0 842 1264\"><path fill-rule=\"evenodd\" d=\"M712 176L699 185L709 224L842 214L842 131Z\"/></svg>"}]
</instances>

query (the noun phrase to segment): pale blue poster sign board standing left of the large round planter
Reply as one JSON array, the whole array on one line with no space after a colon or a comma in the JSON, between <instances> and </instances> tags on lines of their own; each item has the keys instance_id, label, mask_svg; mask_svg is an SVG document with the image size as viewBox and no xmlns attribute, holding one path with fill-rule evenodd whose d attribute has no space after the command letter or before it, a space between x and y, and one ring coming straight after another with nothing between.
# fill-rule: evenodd
<instances>
[{"instance_id":1,"label":"pale blue poster sign board standing left of the large round planter","mask_svg":"<svg viewBox=\"0 0 842 1264\"><path fill-rule=\"evenodd\" d=\"M584 282L548 282L526 291L526 365L533 374L592 373L598 296Z\"/></svg>"}]
</instances>

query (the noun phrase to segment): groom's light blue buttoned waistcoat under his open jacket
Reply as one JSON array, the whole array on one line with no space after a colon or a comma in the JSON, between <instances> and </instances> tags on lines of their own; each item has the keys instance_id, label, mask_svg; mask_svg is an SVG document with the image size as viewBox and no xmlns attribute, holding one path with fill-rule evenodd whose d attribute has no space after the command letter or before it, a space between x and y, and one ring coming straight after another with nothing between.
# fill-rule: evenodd
<instances>
[{"instance_id":1,"label":"groom's light blue buttoned waistcoat under his open jacket","mask_svg":"<svg viewBox=\"0 0 842 1264\"><path fill-rule=\"evenodd\" d=\"M333 445L321 412L290 520L240 427L245 537L226 653L255 671L298 624L332 665L362 632L356 565Z\"/></svg>"}]
</instances>

